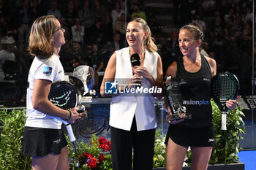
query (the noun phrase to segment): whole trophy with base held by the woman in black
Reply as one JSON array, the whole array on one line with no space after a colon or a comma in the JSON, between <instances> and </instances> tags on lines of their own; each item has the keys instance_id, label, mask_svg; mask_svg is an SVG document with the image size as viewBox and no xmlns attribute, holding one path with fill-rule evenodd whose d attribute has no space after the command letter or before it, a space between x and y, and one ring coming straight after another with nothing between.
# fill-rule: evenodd
<instances>
[{"instance_id":1,"label":"whole trophy with base held by the woman in black","mask_svg":"<svg viewBox=\"0 0 256 170\"><path fill-rule=\"evenodd\" d=\"M165 96L172 112L172 115L166 116L168 122L173 120L181 120L181 113L185 114L185 117L182 119L192 118L192 115L190 113L187 113L187 108L182 106L180 83L181 82L177 77L165 77Z\"/></svg>"}]
</instances>

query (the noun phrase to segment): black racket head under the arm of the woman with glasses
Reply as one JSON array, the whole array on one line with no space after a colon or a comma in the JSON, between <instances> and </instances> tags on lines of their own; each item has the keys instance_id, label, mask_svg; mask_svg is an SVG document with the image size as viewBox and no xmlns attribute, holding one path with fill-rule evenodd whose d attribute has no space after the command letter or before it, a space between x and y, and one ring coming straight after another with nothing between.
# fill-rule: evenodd
<instances>
[{"instance_id":1,"label":"black racket head under the arm of the woman with glasses","mask_svg":"<svg viewBox=\"0 0 256 170\"><path fill-rule=\"evenodd\" d=\"M78 105L78 91L70 82L53 82L48 99L61 109L70 109Z\"/></svg>"}]
</instances>

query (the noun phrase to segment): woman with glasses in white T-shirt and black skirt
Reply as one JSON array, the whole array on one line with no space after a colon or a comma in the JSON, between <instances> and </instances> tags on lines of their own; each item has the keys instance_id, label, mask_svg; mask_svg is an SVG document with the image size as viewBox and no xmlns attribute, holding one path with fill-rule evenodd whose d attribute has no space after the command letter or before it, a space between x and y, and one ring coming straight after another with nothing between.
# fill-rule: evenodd
<instances>
[{"instance_id":1,"label":"woman with glasses in white T-shirt and black skirt","mask_svg":"<svg viewBox=\"0 0 256 170\"><path fill-rule=\"evenodd\" d=\"M53 15L37 18L31 27L29 52L35 58L28 77L22 152L32 156L33 169L69 169L67 141L57 118L74 123L80 118L78 108L64 110L48 100L51 84L64 80L59 60L64 32Z\"/></svg>"}]
</instances>

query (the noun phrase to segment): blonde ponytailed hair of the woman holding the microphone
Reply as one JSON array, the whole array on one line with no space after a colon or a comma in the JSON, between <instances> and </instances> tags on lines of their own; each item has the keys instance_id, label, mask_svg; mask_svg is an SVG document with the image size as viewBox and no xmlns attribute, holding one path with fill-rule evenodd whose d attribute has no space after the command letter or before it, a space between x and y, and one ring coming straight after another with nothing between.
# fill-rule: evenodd
<instances>
[{"instance_id":1,"label":"blonde ponytailed hair of the woman holding the microphone","mask_svg":"<svg viewBox=\"0 0 256 170\"><path fill-rule=\"evenodd\" d=\"M148 32L148 37L146 38L145 41L146 49L152 53L157 52L157 45L155 45L153 40L151 39L151 31L150 28L148 27L148 23L146 22L146 20L143 20L142 18L135 18L132 21L140 23L143 28L143 31Z\"/></svg>"}]
</instances>

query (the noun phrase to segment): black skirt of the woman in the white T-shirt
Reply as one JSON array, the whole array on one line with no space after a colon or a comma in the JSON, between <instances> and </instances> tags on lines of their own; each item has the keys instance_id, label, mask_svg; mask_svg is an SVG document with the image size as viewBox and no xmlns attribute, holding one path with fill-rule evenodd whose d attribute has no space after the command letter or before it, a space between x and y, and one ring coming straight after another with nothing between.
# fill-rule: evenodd
<instances>
[{"instance_id":1,"label":"black skirt of the woman in the white T-shirt","mask_svg":"<svg viewBox=\"0 0 256 170\"><path fill-rule=\"evenodd\" d=\"M22 154L29 156L45 156L50 152L56 155L67 146L62 129L52 128L24 128Z\"/></svg>"}]
</instances>

